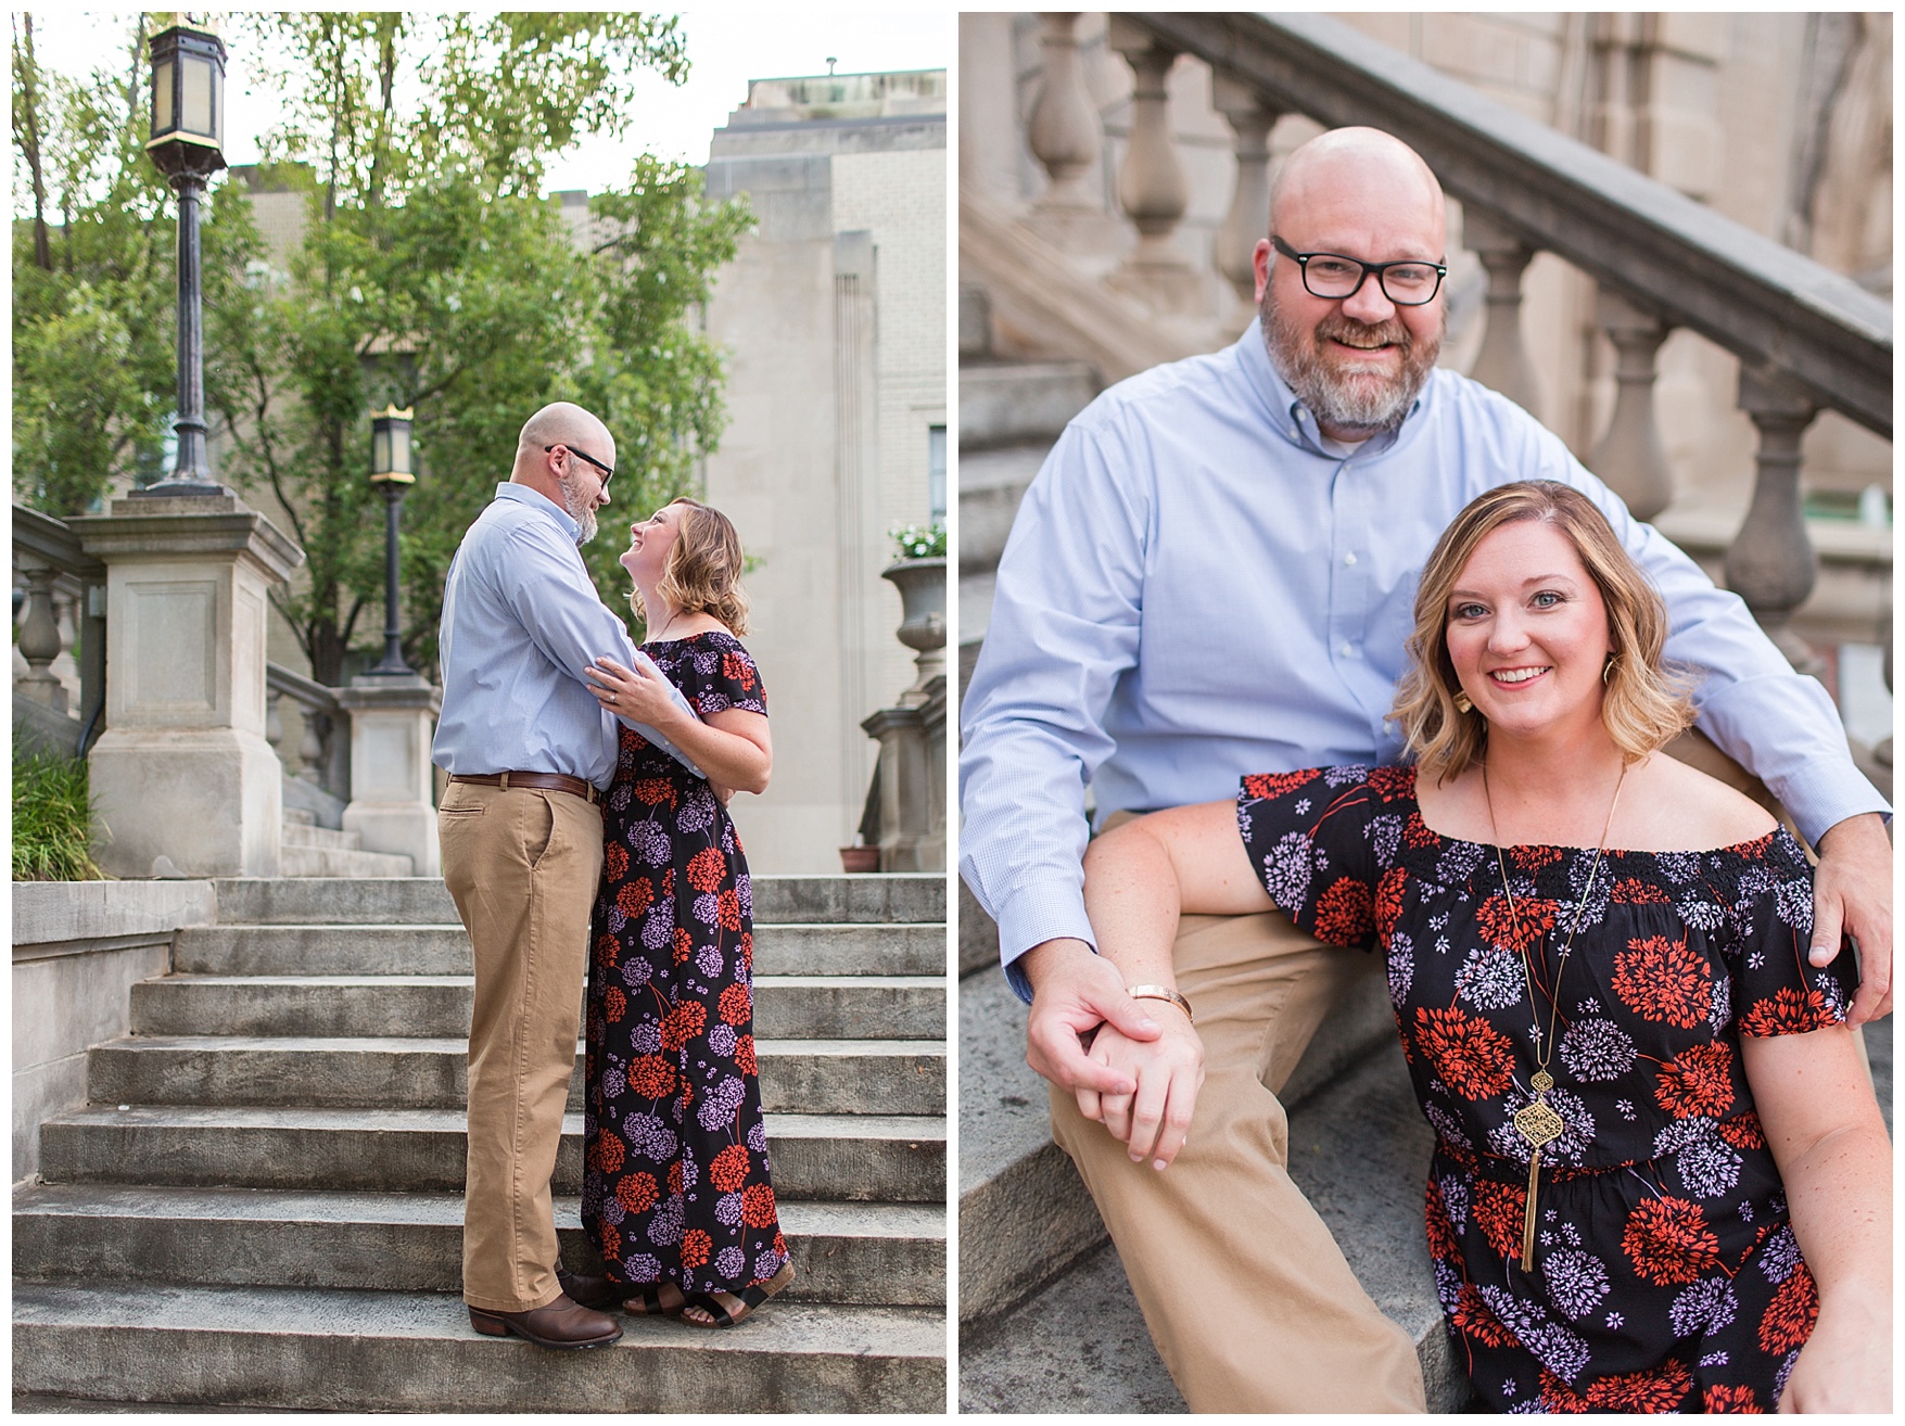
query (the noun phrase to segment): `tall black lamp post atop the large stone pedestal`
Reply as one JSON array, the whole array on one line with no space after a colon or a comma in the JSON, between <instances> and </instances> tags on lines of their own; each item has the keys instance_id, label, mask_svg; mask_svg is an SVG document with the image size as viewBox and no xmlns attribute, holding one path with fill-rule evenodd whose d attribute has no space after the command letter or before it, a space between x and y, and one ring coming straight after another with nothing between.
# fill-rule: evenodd
<instances>
[{"instance_id":1,"label":"tall black lamp post atop the large stone pedestal","mask_svg":"<svg viewBox=\"0 0 1905 1426\"><path fill-rule=\"evenodd\" d=\"M173 25L149 42L152 61L152 166L179 194L179 434L177 466L143 495L227 495L206 465L206 327L198 280L198 200L225 168L225 46Z\"/></svg>"}]
</instances>

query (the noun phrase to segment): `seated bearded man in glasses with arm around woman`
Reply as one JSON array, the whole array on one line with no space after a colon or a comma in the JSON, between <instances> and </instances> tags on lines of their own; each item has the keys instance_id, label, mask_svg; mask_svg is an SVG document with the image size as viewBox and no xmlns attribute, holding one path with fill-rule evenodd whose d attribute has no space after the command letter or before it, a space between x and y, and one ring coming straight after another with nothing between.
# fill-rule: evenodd
<instances>
[{"instance_id":1,"label":"seated bearded man in glasses with arm around woman","mask_svg":"<svg viewBox=\"0 0 1905 1426\"><path fill-rule=\"evenodd\" d=\"M1189 1405L1423 1411L1414 1344L1284 1169L1276 1091L1360 956L1280 914L1185 916L1177 988L1126 988L1084 914L1084 784L1103 830L1233 796L1242 773L1398 762L1421 562L1474 495L1545 478L1606 510L1667 598L1669 659L1703 674L1701 727L1819 842L1812 956L1859 935L1855 1020L1890 1011L1886 803L1737 598L1534 417L1434 367L1446 221L1412 149L1324 133L1271 211L1261 320L1101 394L1025 495L962 710L960 870L1031 1000L1053 1139ZM1137 1066L1202 1076L1194 1114L1133 1097Z\"/></svg>"}]
</instances>

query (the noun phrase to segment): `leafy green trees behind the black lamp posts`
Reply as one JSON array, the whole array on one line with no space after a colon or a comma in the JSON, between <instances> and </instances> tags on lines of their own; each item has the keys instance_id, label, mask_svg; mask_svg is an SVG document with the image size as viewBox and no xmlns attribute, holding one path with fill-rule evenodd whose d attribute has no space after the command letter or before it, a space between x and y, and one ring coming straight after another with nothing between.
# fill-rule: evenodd
<instances>
[{"instance_id":1,"label":"leafy green trees behind the black lamp posts","mask_svg":"<svg viewBox=\"0 0 1905 1426\"><path fill-rule=\"evenodd\" d=\"M381 644L383 501L364 476L370 415L387 404L415 411L400 550L413 664L434 664L455 545L507 478L522 421L551 400L589 406L617 434L617 520L585 558L619 609L619 516L690 489L720 436L720 354L690 316L751 219L653 158L592 200L585 242L535 194L566 147L627 129L638 74L686 74L674 21L236 23L234 46L280 55L263 78L284 118L255 181L303 192L309 223L272 272L246 185L213 185L206 400L219 476L276 493L305 548L276 598L314 676L337 683L352 644ZM42 74L15 17L15 202L34 215L13 240L15 493L55 514L156 472L171 413L175 209L143 154L143 32L110 74L74 84Z\"/></svg>"}]
</instances>

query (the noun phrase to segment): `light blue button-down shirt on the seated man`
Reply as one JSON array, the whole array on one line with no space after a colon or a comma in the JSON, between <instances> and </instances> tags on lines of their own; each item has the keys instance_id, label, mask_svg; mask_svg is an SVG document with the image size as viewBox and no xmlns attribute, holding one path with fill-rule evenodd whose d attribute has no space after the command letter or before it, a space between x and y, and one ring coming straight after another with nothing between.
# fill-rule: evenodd
<instances>
[{"instance_id":1,"label":"light blue button-down shirt on the seated man","mask_svg":"<svg viewBox=\"0 0 1905 1426\"><path fill-rule=\"evenodd\" d=\"M1421 565L1511 480L1566 482L1608 514L1667 598L1667 657L1703 674L1699 727L1800 832L1886 809L1825 689L1507 398L1436 369L1398 430L1343 449L1326 453L1255 324L1118 383L1053 446L962 710L960 872L1021 996L1017 956L1095 944L1086 782L1103 819L1227 798L1242 773L1400 760L1387 714Z\"/></svg>"}]
</instances>

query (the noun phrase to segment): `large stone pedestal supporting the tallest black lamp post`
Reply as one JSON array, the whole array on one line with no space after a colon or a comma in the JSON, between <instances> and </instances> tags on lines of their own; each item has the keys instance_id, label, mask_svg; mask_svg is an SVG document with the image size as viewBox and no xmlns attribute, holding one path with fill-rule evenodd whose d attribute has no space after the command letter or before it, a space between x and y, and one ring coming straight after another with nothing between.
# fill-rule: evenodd
<instances>
[{"instance_id":1,"label":"large stone pedestal supporting the tallest black lamp post","mask_svg":"<svg viewBox=\"0 0 1905 1426\"><path fill-rule=\"evenodd\" d=\"M305 552L234 495L114 501L69 522L107 565L107 731L91 788L120 878L276 876L284 777L265 739L265 594Z\"/></svg>"}]
</instances>

